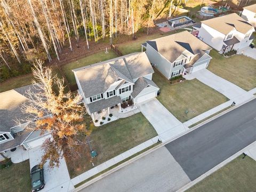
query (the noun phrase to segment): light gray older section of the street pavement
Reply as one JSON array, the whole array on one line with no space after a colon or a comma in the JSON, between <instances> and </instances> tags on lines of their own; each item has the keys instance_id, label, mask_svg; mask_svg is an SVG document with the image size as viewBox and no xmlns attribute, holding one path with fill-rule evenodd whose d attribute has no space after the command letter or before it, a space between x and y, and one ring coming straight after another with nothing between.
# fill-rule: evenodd
<instances>
[{"instance_id":1,"label":"light gray older section of the street pavement","mask_svg":"<svg viewBox=\"0 0 256 192\"><path fill-rule=\"evenodd\" d=\"M190 182L187 174L165 147L132 162L81 192L176 191Z\"/></svg>"}]
</instances>

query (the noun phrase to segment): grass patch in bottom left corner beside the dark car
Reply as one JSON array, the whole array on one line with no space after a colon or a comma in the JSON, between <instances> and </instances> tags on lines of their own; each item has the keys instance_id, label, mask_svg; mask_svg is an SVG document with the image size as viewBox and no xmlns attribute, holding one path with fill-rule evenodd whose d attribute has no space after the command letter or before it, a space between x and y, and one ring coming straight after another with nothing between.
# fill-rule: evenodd
<instances>
[{"instance_id":1,"label":"grass patch in bottom left corner beside the dark car","mask_svg":"<svg viewBox=\"0 0 256 192\"><path fill-rule=\"evenodd\" d=\"M0 191L31 192L29 160L0 170Z\"/></svg>"}]
</instances>

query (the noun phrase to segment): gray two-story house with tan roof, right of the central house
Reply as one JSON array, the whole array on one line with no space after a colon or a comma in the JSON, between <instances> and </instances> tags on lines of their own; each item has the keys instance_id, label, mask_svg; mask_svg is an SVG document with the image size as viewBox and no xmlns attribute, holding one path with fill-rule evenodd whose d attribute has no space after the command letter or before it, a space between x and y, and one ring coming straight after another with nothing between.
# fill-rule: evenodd
<instances>
[{"instance_id":1,"label":"gray two-story house with tan roof, right of the central house","mask_svg":"<svg viewBox=\"0 0 256 192\"><path fill-rule=\"evenodd\" d=\"M153 39L142 44L150 63L167 79L207 68L210 46L188 31Z\"/></svg>"}]
</instances>

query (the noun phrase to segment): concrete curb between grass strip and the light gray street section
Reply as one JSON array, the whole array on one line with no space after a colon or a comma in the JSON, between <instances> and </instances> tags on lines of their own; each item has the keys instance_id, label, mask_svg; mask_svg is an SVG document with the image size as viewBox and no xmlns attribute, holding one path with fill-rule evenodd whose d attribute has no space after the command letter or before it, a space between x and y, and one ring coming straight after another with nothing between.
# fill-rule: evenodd
<instances>
[{"instance_id":1,"label":"concrete curb between grass strip and the light gray street section","mask_svg":"<svg viewBox=\"0 0 256 192\"><path fill-rule=\"evenodd\" d=\"M157 145L157 146L155 146L155 147L153 147L153 148L151 148L151 149L149 149L149 150L147 150L147 151L129 159L128 161L122 163L121 165L116 166L115 168L113 168L113 169L111 169L111 170L109 170L105 173L102 173L98 177L95 177L95 178L91 179L90 181L84 183L83 185L75 188L73 191L76 192L76 191L79 191L79 190L89 186L89 185L92 185L92 183L97 182L98 180L107 177L109 174L114 173L114 172L118 171L119 169L122 169L124 166L129 165L129 164L133 163L134 161L137 161L141 157L144 157L144 156L150 154L151 152L153 152L153 151L155 151L155 150L157 150L161 147L163 147L163 143L159 143L159 145Z\"/></svg>"}]
</instances>

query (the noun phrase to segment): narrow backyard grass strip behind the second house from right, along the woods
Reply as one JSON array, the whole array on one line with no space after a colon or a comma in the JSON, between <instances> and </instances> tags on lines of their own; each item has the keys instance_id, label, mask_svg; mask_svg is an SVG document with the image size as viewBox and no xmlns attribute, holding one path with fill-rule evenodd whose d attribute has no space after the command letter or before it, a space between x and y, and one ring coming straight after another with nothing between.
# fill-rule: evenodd
<instances>
[{"instance_id":1,"label":"narrow backyard grass strip behind the second house from right, along the woods","mask_svg":"<svg viewBox=\"0 0 256 192\"><path fill-rule=\"evenodd\" d=\"M169 33L161 33L159 30L159 33L156 33L156 34L152 34L152 35L143 34L141 37L138 37L136 40L133 40L132 42L120 44L117 47L118 47L118 50L121 51L124 55L134 53L134 52L141 52L142 43L145 43L146 41L149 41L151 39L171 35L174 33L179 33L184 30L185 29L177 29L175 31L170 31Z\"/></svg>"}]
</instances>

